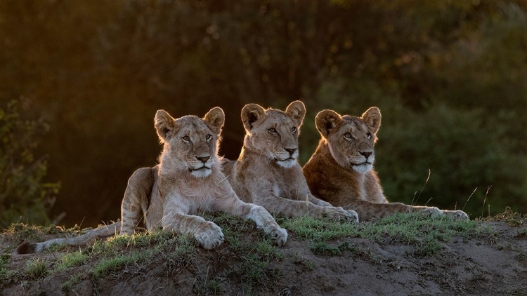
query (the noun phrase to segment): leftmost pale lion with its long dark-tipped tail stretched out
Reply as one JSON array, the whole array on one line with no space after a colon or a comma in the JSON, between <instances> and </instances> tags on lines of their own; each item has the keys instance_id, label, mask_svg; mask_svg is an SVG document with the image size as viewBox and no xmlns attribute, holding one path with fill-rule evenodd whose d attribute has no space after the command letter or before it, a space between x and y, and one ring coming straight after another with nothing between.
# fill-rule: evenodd
<instances>
[{"instance_id":1,"label":"leftmost pale lion with its long dark-tipped tail stretched out","mask_svg":"<svg viewBox=\"0 0 527 296\"><path fill-rule=\"evenodd\" d=\"M209 250L220 245L224 237L218 225L198 215L204 211L253 220L274 243L284 245L287 231L265 208L241 201L221 172L216 151L224 121L219 107L203 119L192 115L174 119L164 110L157 111L155 129L163 144L159 164L131 175L122 200L121 221L74 238L25 243L17 253L39 252L53 243L85 245L92 238L115 234L119 228L120 234L131 235L141 220L150 231L162 227L176 234L192 234Z\"/></svg>"}]
</instances>

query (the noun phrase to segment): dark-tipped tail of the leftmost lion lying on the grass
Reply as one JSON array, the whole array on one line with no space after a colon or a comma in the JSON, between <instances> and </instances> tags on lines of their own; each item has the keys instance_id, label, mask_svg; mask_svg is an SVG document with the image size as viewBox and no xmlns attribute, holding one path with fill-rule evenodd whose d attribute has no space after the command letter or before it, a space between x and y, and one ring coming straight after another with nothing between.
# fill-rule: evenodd
<instances>
[{"instance_id":1,"label":"dark-tipped tail of the leftmost lion lying on the grass","mask_svg":"<svg viewBox=\"0 0 527 296\"><path fill-rule=\"evenodd\" d=\"M55 238L49 241L43 241L41 243L30 243L25 241L18 245L15 250L15 254L38 253L43 250L47 250L49 247L51 247L51 245L53 245L53 243L57 243L58 245L86 245L93 238L103 238L119 234L120 230L121 222L119 221L103 227L91 229L82 236L75 236L71 238Z\"/></svg>"}]
</instances>

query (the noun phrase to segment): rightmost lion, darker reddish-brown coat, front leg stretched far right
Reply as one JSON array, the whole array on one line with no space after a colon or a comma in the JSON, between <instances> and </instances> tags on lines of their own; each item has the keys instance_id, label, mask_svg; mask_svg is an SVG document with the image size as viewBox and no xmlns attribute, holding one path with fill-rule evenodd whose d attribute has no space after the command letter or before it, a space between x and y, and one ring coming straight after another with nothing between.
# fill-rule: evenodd
<instances>
[{"instance_id":1,"label":"rightmost lion, darker reddish-brown coat, front leg stretched far right","mask_svg":"<svg viewBox=\"0 0 527 296\"><path fill-rule=\"evenodd\" d=\"M388 202L373 169L374 146L381 126L381 112L377 107L367 109L360 117L341 116L326 109L316 115L315 126L321 139L303 171L309 189L318 198L355 210L360 220L414 211L468 219L462 210Z\"/></svg>"}]
</instances>

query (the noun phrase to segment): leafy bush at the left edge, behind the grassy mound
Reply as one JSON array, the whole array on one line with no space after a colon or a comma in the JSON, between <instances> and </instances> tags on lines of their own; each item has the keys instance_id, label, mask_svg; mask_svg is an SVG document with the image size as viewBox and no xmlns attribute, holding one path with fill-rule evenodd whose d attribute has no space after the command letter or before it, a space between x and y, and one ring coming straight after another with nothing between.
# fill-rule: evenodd
<instances>
[{"instance_id":1,"label":"leafy bush at the left edge, behind the grassy mound","mask_svg":"<svg viewBox=\"0 0 527 296\"><path fill-rule=\"evenodd\" d=\"M48 126L24 119L18 100L0 109L0 228L13 222L47 224L58 183L43 182L47 162L35 151Z\"/></svg>"}]
</instances>

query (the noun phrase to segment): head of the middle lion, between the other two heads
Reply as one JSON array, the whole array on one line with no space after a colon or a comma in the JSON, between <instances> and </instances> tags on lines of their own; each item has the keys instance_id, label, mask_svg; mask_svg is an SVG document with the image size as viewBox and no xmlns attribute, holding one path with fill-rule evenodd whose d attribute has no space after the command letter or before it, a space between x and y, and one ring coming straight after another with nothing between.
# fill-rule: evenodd
<instances>
[{"instance_id":1,"label":"head of the middle lion, between the other two heads","mask_svg":"<svg viewBox=\"0 0 527 296\"><path fill-rule=\"evenodd\" d=\"M306 107L294 101L285 112L249 104L242 109L244 146L266 156L283 168L292 168L298 158L298 136Z\"/></svg>"}]
</instances>

